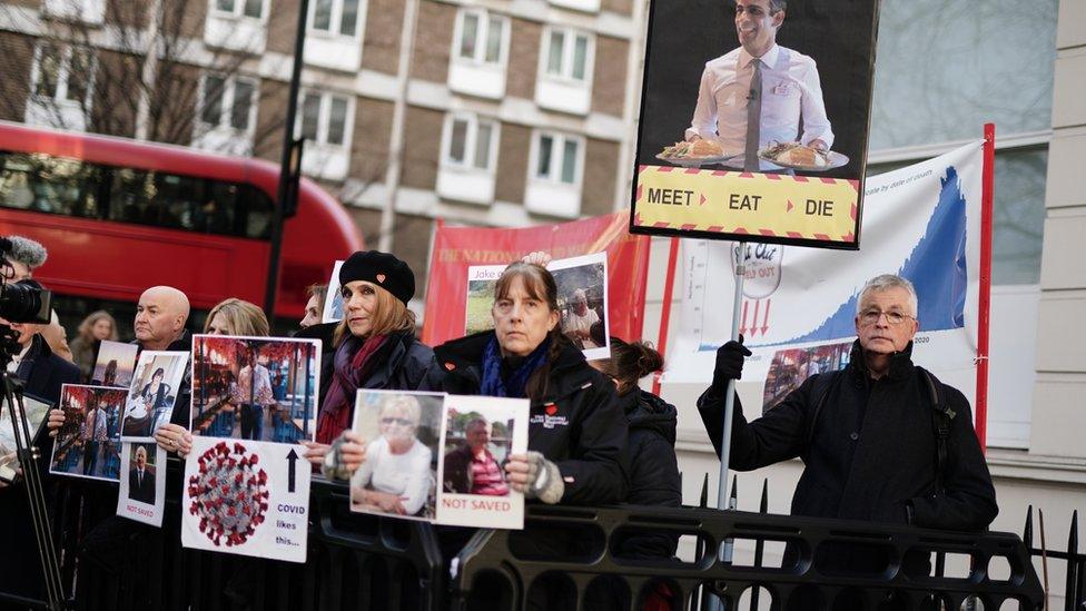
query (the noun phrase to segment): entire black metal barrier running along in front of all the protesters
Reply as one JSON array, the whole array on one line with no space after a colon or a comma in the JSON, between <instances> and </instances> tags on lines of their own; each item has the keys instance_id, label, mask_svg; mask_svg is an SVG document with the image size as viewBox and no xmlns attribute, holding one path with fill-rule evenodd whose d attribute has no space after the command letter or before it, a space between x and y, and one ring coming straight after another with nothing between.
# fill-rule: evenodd
<instances>
[{"instance_id":1,"label":"entire black metal barrier running along in front of all the protesters","mask_svg":"<svg viewBox=\"0 0 1086 611\"><path fill-rule=\"evenodd\" d=\"M180 473L171 466L167 490L180 490ZM297 564L181 548L179 500L172 495L162 528L154 529L110 515L116 486L69 480L59 487L55 532L71 607L81 610L399 611L529 603L693 610L709 593L731 610L749 608L754 591L774 610L798 602L802 609L980 609L977 601L985 610L1035 610L1044 600L1028 548L1005 533L694 507L531 506L525 531L478 531L467 540L463 530L352 513L346 486L315 480L308 561ZM644 560L625 551L631 538L653 533L687 538L682 546L695 546L694 558ZM445 566L440 543L448 549L457 538L467 543ZM718 550L727 540L737 550L752 542L774 550L764 554L773 562L740 553L723 562ZM968 559L970 569L938 576L941 569L929 560L945 555ZM989 575L996 562L1001 579ZM0 593L0 608L3 602Z\"/></svg>"}]
</instances>

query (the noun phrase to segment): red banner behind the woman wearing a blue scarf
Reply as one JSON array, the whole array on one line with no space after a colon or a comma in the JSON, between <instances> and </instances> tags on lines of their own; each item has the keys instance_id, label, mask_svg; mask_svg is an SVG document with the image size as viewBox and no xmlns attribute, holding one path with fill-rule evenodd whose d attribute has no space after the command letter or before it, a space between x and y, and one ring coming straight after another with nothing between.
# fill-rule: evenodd
<instances>
[{"instance_id":1,"label":"red banner behind the woman wearing a blue scarf","mask_svg":"<svg viewBox=\"0 0 1086 611\"><path fill-rule=\"evenodd\" d=\"M629 224L630 213L625 210L562 225L519 229L438 225L430 262L423 343L436 346L464 335L468 267L507 264L535 250L545 250L555 259L606 250L611 334L628 341L640 339L649 237L630 235Z\"/></svg>"}]
</instances>

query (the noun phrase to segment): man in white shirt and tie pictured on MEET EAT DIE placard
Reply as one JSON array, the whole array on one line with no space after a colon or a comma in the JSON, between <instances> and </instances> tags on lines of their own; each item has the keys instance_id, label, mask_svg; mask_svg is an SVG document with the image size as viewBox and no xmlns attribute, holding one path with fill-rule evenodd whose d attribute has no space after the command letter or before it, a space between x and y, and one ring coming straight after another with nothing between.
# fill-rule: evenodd
<instances>
[{"instance_id":1,"label":"man in white shirt and tie pictured on MEET EAT DIE placard","mask_svg":"<svg viewBox=\"0 0 1086 611\"><path fill-rule=\"evenodd\" d=\"M780 169L758 159L758 150L771 141L821 150L833 145L814 60L777 45L786 6L786 0L735 0L740 47L705 63L685 131L687 140L715 139L725 154L742 152L734 164L747 170Z\"/></svg>"}]
</instances>

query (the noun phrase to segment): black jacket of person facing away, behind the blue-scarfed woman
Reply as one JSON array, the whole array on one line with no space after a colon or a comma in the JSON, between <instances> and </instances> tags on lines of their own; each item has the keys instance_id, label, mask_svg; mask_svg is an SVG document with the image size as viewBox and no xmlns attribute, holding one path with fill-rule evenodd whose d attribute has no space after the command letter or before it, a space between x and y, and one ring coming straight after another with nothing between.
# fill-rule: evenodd
<instances>
[{"instance_id":1,"label":"black jacket of person facing away, behind the blue-scarfed woman","mask_svg":"<svg viewBox=\"0 0 1086 611\"><path fill-rule=\"evenodd\" d=\"M642 391L622 396L630 424L630 493L632 505L682 505L679 463L675 459L674 405ZM622 541L619 555L631 558L671 558L679 535L639 534Z\"/></svg>"}]
</instances>

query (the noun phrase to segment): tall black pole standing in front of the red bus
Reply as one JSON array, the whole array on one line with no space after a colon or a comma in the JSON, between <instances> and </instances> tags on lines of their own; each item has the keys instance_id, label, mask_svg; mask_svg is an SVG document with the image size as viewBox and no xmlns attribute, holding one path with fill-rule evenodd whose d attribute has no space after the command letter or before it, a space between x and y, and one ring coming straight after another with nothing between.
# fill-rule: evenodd
<instances>
[{"instance_id":1,"label":"tall black pole standing in front of the red bus","mask_svg":"<svg viewBox=\"0 0 1086 611\"><path fill-rule=\"evenodd\" d=\"M264 313L270 326L275 326L275 295L279 284L279 255L283 250L283 210L290 186L290 155L294 148L294 124L298 108L298 88L302 83L302 65L305 62L305 28L309 0L298 3L298 31L294 38L294 68L290 71L290 95L287 98L287 119L283 130L283 156L279 159L279 187L272 205L272 253L268 255L268 283L264 292ZM300 155L300 150L298 151ZM297 162L300 166L302 160Z\"/></svg>"}]
</instances>

